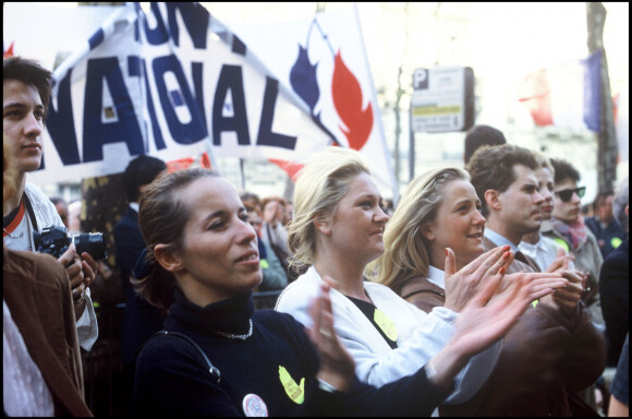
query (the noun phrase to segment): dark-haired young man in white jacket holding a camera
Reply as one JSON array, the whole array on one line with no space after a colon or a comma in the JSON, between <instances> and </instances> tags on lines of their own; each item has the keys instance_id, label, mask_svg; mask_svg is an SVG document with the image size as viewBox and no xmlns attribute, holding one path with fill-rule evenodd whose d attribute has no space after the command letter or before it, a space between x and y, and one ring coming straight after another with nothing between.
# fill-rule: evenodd
<instances>
[{"instance_id":1,"label":"dark-haired young man in white jacket holding a camera","mask_svg":"<svg viewBox=\"0 0 632 419\"><path fill-rule=\"evenodd\" d=\"M3 240L4 246L12 250L37 251L35 231L64 227L48 196L26 182L26 173L37 170L41 164L41 132L51 93L50 83L50 71L37 62L20 57L4 59L3 131L16 193L7 202ZM74 244L61 254L59 262L70 278L80 345L90 350L98 336L98 326L88 286L95 278L97 262L87 252L76 254Z\"/></svg>"}]
</instances>

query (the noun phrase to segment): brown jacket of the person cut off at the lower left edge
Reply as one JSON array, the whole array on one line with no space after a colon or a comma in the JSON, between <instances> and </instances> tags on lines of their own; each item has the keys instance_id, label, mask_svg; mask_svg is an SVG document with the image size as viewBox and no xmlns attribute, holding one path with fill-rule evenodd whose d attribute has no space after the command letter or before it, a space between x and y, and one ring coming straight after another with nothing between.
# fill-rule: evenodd
<instances>
[{"instance_id":1,"label":"brown jacket of the person cut off at the lower left edge","mask_svg":"<svg viewBox=\"0 0 632 419\"><path fill-rule=\"evenodd\" d=\"M93 416L84 400L83 372L70 280L49 254L4 247L4 301L39 368L56 416Z\"/></svg>"}]
</instances>

